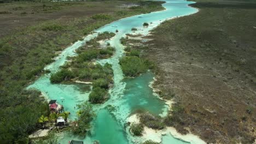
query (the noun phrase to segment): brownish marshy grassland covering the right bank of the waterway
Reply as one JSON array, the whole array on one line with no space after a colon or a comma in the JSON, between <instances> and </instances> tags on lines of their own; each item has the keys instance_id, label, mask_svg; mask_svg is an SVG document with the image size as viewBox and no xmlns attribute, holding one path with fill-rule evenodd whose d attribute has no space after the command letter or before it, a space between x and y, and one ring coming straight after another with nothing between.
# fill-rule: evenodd
<instances>
[{"instance_id":1,"label":"brownish marshy grassland covering the right bank of the waterway","mask_svg":"<svg viewBox=\"0 0 256 144\"><path fill-rule=\"evenodd\" d=\"M256 3L197 0L196 14L152 32L144 56L158 64L155 88L173 98L167 125L211 143L256 137Z\"/></svg>"}]
</instances>

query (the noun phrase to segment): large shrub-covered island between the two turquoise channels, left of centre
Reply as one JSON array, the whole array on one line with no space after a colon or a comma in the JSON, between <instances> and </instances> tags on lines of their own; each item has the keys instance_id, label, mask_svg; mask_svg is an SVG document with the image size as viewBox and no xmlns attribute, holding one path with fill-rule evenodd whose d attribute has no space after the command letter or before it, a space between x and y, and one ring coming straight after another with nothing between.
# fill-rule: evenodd
<instances>
[{"instance_id":1,"label":"large shrub-covered island between the two turquoise channels, left of centre","mask_svg":"<svg viewBox=\"0 0 256 144\"><path fill-rule=\"evenodd\" d=\"M60 71L51 74L52 83L60 82L92 82L93 88L89 95L91 103L103 103L108 99L108 88L113 84L113 70L108 63L103 66L95 64L95 59L108 58L113 55L114 47L101 46L98 40L106 40L114 37L114 33L103 32L91 39L85 46L80 47L78 56L70 58Z\"/></svg>"}]
</instances>

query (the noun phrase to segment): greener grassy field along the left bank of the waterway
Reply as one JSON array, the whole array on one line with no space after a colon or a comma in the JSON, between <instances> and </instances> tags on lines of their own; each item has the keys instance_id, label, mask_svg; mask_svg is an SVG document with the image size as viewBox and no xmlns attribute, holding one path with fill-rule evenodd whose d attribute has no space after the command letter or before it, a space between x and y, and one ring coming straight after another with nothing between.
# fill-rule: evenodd
<instances>
[{"instance_id":1,"label":"greener grassy field along the left bank of the waterway","mask_svg":"<svg viewBox=\"0 0 256 144\"><path fill-rule=\"evenodd\" d=\"M109 22L163 8L161 2L101 1L10 2L0 9L0 141L27 143L38 118L49 113L40 92L24 88L57 53Z\"/></svg>"}]
</instances>

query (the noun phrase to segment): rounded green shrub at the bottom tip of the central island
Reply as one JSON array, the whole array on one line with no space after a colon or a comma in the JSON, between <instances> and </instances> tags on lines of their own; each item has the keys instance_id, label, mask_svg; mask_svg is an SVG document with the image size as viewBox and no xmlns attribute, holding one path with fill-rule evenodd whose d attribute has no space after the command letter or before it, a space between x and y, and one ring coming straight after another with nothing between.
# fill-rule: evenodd
<instances>
[{"instance_id":1,"label":"rounded green shrub at the bottom tip of the central island","mask_svg":"<svg viewBox=\"0 0 256 144\"><path fill-rule=\"evenodd\" d=\"M89 95L89 101L92 104L100 104L106 99L107 90L101 87L94 87Z\"/></svg>"}]
</instances>

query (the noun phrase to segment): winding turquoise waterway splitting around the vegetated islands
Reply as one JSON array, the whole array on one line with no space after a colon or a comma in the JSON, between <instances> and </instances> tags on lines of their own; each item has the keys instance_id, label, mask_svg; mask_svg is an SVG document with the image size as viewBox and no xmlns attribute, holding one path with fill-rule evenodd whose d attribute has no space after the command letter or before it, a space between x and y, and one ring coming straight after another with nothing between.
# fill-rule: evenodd
<instances>
[{"instance_id":1,"label":"winding turquoise waterway splitting around the vegetated islands","mask_svg":"<svg viewBox=\"0 0 256 144\"><path fill-rule=\"evenodd\" d=\"M147 35L151 29L158 26L162 21L196 13L197 9L188 6L190 3L193 2L166 0L166 3L163 4L166 10L126 17L96 29L95 32L97 33L104 31L115 32L116 29L119 31L112 39L107 41L115 47L115 55L109 59L97 61L100 64L106 62L112 64L114 86L109 90L110 99L102 105L94 106L97 116L95 121L92 122L93 127L90 134L85 139L69 133L63 133L60 137L60 143L68 143L70 140L83 140L85 143L92 143L94 140L98 140L103 144L125 144L135 143L135 141L140 143L143 141L139 137L130 135L128 128L125 127L127 117L136 110L147 110L156 115L164 116L167 113L168 106L149 87L149 83L153 81L154 76L150 71L134 79L124 78L123 71L119 65L119 58L124 55L124 47L120 44L120 38L124 37L126 33L132 33L131 28L133 27L139 30L137 33ZM149 27L142 27L144 22L150 23ZM59 57L56 57L56 61L45 67L45 69L49 69L51 73L55 73L67 61L67 56L75 56L76 53L74 53L74 50L84 45L85 41L96 37L97 33L88 35L83 41L77 41L72 46L67 47ZM89 93L80 92L76 85L51 84L49 77L50 74L40 77L28 88L39 89L45 97L59 101L65 107L65 111L71 112L70 119L74 119L76 117L75 112L77 111L75 105L88 100ZM114 110L112 109L110 111L108 109L109 105ZM188 142L175 139L172 135L166 135L162 137L162 143Z\"/></svg>"}]
</instances>

